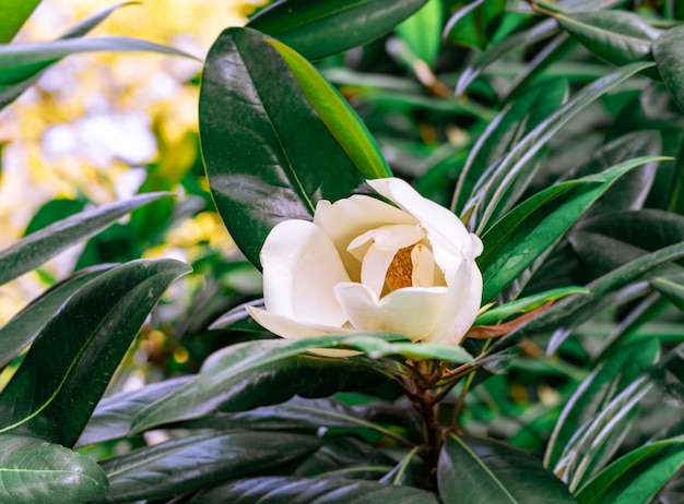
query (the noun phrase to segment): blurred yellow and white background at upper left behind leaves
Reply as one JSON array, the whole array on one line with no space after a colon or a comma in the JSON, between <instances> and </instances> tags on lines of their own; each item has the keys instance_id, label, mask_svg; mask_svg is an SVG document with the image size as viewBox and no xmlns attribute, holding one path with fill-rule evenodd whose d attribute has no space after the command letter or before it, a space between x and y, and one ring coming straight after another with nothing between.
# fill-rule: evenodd
<instances>
[{"instance_id":1,"label":"blurred yellow and white background at upper left behind leaves","mask_svg":"<svg viewBox=\"0 0 684 504\"><path fill-rule=\"evenodd\" d=\"M200 60L219 34L239 26L262 2L149 0L117 9L89 36L128 36L181 49ZM78 21L115 5L110 0L44 0L16 43L50 40ZM160 141L181 147L198 129L199 87L189 83L201 62L152 53L71 56L0 112L0 248L19 240L36 209L55 197L86 194L98 204L130 196ZM178 148L177 152L181 152ZM210 237L228 242L214 214L200 214L169 240ZM66 276L74 254L48 269ZM45 290L35 273L0 288L0 323Z\"/></svg>"}]
</instances>

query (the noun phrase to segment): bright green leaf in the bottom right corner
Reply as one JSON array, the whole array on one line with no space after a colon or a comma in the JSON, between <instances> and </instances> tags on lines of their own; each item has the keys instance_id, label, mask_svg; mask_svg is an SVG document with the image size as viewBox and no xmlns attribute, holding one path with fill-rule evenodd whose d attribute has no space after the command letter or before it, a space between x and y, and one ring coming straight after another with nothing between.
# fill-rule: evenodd
<instances>
[{"instance_id":1,"label":"bright green leaf in the bottom right corner","mask_svg":"<svg viewBox=\"0 0 684 504\"><path fill-rule=\"evenodd\" d=\"M623 455L576 494L580 504L651 502L684 466L684 440L656 441Z\"/></svg>"}]
</instances>

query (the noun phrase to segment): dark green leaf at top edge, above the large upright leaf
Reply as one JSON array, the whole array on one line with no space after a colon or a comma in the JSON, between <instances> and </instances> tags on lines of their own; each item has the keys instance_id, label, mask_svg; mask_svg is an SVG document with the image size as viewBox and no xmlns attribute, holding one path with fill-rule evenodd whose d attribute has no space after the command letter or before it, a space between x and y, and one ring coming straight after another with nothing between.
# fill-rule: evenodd
<instances>
[{"instance_id":1,"label":"dark green leaf at top edge, above the large upright leaf","mask_svg":"<svg viewBox=\"0 0 684 504\"><path fill-rule=\"evenodd\" d=\"M427 0L281 0L247 23L309 60L367 44L421 9Z\"/></svg>"}]
</instances>

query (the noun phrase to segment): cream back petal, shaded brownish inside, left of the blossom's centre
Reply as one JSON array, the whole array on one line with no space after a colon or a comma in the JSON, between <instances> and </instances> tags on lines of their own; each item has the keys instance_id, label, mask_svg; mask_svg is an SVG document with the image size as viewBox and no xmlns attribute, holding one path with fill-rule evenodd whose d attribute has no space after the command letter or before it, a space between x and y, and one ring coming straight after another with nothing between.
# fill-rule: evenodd
<instances>
[{"instance_id":1,"label":"cream back petal, shaded brownish inside, left of the blossom's centre","mask_svg":"<svg viewBox=\"0 0 684 504\"><path fill-rule=\"evenodd\" d=\"M334 203L319 201L314 223L330 237L354 281L361 279L361 263L346 250L354 238L369 229L389 224L418 224L410 214L380 200L361 194Z\"/></svg>"}]
</instances>

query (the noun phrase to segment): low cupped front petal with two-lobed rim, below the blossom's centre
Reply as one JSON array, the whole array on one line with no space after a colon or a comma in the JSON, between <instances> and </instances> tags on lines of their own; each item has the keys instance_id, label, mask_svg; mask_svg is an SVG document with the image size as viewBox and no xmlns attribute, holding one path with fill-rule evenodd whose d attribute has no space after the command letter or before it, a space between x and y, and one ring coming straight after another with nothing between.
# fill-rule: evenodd
<instances>
[{"instance_id":1,"label":"low cupped front petal with two-lobed rim, below the blossom's centre","mask_svg":"<svg viewBox=\"0 0 684 504\"><path fill-rule=\"evenodd\" d=\"M448 298L446 287L409 287L381 300L361 284L339 284L334 290L355 329L389 331L412 341L433 333Z\"/></svg>"}]
</instances>

